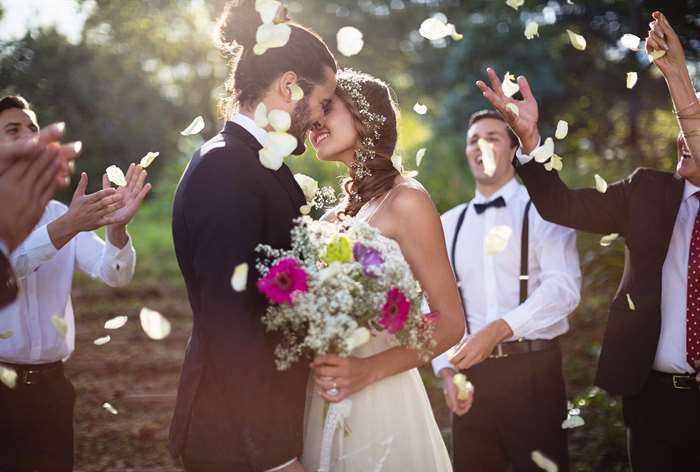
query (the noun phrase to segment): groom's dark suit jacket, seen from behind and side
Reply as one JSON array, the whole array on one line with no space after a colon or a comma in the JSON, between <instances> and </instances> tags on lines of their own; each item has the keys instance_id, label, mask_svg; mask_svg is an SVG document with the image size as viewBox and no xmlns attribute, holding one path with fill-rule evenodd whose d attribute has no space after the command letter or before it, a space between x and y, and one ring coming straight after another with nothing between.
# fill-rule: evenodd
<instances>
[{"instance_id":1,"label":"groom's dark suit jacket, seen from behind and side","mask_svg":"<svg viewBox=\"0 0 700 472\"><path fill-rule=\"evenodd\" d=\"M260 321L255 247L287 248L304 195L287 166L260 164L261 146L227 122L185 170L175 194L175 252L193 312L170 450L211 468L264 470L301 456L308 370L278 372L279 342ZM231 287L247 262L248 287Z\"/></svg>"}]
</instances>

